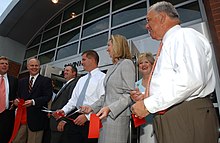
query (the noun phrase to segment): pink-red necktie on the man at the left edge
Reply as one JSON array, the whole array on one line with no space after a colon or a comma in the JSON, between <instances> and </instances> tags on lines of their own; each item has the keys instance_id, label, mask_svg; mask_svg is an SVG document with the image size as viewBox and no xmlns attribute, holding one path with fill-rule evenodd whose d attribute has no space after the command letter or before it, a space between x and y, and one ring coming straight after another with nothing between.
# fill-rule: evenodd
<instances>
[{"instance_id":1,"label":"pink-red necktie on the man at the left edge","mask_svg":"<svg viewBox=\"0 0 220 143\"><path fill-rule=\"evenodd\" d=\"M5 80L4 76L0 79L0 113L5 111L6 108L6 92L5 92Z\"/></svg>"}]
</instances>

